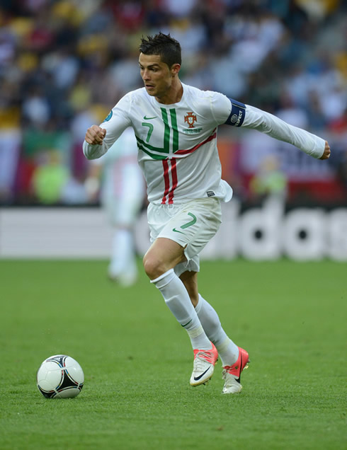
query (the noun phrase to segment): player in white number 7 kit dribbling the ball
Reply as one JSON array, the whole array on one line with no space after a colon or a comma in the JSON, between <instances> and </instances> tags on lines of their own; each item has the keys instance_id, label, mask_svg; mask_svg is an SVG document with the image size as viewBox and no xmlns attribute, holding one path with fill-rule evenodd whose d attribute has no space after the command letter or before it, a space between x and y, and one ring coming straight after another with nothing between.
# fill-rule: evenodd
<instances>
[{"instance_id":1,"label":"player in white number 7 kit dribbling the ball","mask_svg":"<svg viewBox=\"0 0 347 450\"><path fill-rule=\"evenodd\" d=\"M228 337L198 292L199 253L220 226L220 202L232 198L221 179L217 127L258 129L320 159L329 158L329 144L222 93L181 83L181 46L170 35L142 37L139 64L144 88L127 93L100 126L87 130L84 155L99 158L127 127L135 130L152 241L144 270L188 332L194 353L190 385L211 378L219 354L222 393L239 393L249 354Z\"/></svg>"}]
</instances>

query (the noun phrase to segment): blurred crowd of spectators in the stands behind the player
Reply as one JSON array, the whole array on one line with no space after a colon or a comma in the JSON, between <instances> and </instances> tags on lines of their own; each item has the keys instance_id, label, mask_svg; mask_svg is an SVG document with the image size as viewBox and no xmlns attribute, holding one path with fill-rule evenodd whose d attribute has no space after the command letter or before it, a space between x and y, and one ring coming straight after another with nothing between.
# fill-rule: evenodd
<instances>
[{"instance_id":1,"label":"blurred crowd of spectators in the stands behind the player","mask_svg":"<svg viewBox=\"0 0 347 450\"><path fill-rule=\"evenodd\" d=\"M140 37L159 30L183 82L332 139L346 188L346 2L1 0L0 204L89 201L86 129L143 85Z\"/></svg>"}]
</instances>

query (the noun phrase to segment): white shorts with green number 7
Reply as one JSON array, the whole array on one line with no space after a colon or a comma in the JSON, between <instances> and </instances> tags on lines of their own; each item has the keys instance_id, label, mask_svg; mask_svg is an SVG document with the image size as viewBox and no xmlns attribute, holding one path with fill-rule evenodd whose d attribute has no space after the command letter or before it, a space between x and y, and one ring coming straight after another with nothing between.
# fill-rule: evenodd
<instances>
[{"instance_id":1,"label":"white shorts with green number 7","mask_svg":"<svg viewBox=\"0 0 347 450\"><path fill-rule=\"evenodd\" d=\"M169 238L184 248L186 262L176 265L177 275L199 272L199 253L215 236L222 223L220 200L203 198L180 204L152 204L147 208L151 242Z\"/></svg>"}]
</instances>

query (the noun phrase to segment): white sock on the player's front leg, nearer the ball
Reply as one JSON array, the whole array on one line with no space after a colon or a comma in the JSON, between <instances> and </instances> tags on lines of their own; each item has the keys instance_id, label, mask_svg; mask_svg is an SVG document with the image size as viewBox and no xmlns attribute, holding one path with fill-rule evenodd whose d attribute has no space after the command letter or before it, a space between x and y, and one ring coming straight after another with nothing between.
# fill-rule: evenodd
<instances>
[{"instance_id":1,"label":"white sock on the player's front leg, nearer the ball","mask_svg":"<svg viewBox=\"0 0 347 450\"><path fill-rule=\"evenodd\" d=\"M193 349L210 350L211 342L201 326L186 287L177 277L174 269L170 269L160 277L152 279L151 283L156 285L171 313L187 331Z\"/></svg>"}]
</instances>

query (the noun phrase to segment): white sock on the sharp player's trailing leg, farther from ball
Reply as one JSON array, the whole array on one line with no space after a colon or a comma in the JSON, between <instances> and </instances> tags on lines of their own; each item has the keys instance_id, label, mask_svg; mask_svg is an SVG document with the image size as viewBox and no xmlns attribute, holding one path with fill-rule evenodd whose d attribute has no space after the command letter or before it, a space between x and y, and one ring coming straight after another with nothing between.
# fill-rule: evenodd
<instances>
[{"instance_id":1,"label":"white sock on the sharp player's trailing leg, farther from ball","mask_svg":"<svg viewBox=\"0 0 347 450\"><path fill-rule=\"evenodd\" d=\"M239 347L229 339L222 328L220 318L215 309L200 294L195 311L207 337L215 344L218 350L222 366L232 366L239 357Z\"/></svg>"}]
</instances>

